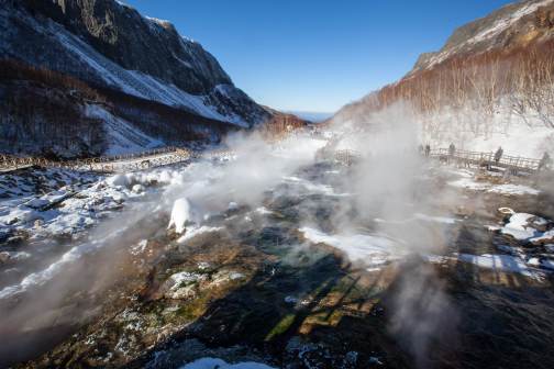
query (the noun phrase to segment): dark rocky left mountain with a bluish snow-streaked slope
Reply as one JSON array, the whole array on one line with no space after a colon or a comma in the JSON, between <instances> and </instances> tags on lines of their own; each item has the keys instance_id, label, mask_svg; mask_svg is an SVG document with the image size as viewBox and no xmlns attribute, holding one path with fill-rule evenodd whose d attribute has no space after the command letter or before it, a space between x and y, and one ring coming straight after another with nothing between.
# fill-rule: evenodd
<instances>
[{"instance_id":1,"label":"dark rocky left mountain with a bluish snow-streaked slope","mask_svg":"<svg viewBox=\"0 0 554 369\"><path fill-rule=\"evenodd\" d=\"M141 109L152 101L200 121L220 122L223 130L229 125L250 128L270 118L233 85L199 43L180 36L171 23L143 16L114 0L2 1L0 55L3 60L63 74L99 91L135 97ZM84 114L98 112L88 104L81 102ZM109 121L108 133L118 119ZM133 127L133 123L125 124ZM164 131L165 123L158 124L158 131ZM162 136L149 141L164 141Z\"/></svg>"}]
</instances>

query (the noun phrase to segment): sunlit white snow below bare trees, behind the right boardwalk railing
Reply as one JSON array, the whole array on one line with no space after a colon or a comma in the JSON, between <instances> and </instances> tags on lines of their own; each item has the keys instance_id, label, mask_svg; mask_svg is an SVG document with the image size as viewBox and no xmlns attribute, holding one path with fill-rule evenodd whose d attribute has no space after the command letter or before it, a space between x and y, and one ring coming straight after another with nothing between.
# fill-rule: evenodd
<instances>
[{"instance_id":1,"label":"sunlit white snow below bare trees, behind the right boardwalk railing","mask_svg":"<svg viewBox=\"0 0 554 369\"><path fill-rule=\"evenodd\" d=\"M413 134L417 144L429 144L432 149L447 148L495 153L502 147L505 155L540 159L545 152L554 156L554 128L533 112L518 115L511 111L509 97L492 115L480 113L480 108L443 107L429 115L421 115L405 104L395 104L367 118L352 118L333 122L337 134L337 149L367 152L373 132L383 131L387 121L406 122L406 132ZM335 120L339 120L336 116ZM369 133L369 134L368 134Z\"/></svg>"}]
</instances>

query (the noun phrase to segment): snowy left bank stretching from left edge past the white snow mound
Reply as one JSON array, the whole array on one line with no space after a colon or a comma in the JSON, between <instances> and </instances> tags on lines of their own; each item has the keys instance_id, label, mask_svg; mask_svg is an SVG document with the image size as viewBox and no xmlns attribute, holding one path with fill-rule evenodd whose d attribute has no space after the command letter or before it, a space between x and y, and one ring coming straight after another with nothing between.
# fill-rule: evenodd
<instances>
[{"instance_id":1,"label":"snowy left bank stretching from left edge past the white snow mound","mask_svg":"<svg viewBox=\"0 0 554 369\"><path fill-rule=\"evenodd\" d=\"M215 156L191 164L113 176L67 169L30 169L2 176L0 236L3 247L0 256L8 267L3 272L20 273L18 261L41 258L41 253L51 248L38 247L44 243L52 239L65 239L65 243L56 246L58 250L54 255L58 257L52 264L45 268L41 264L42 269L30 270L18 283L0 287L0 298L45 283L85 255L109 247L137 220L169 214L171 206L170 227L177 227L177 233L186 231L179 243L217 231L217 227L204 225L204 220L235 209L236 202L244 204L247 198L262 195L267 187L281 180L281 171L293 171L298 165L309 163L319 147L306 145L311 148L304 150L303 158L298 156L299 152L293 152L289 159L295 164L288 167L290 161L285 157L290 153L285 153L282 147L268 150L268 146L259 145L264 156L254 157L250 161L252 166L261 168L267 160L281 165L279 174L268 179L265 176L259 178L259 172L251 171L248 166L236 164L239 158L248 159L248 149L239 153L239 158ZM197 216L191 216L191 208L184 210L184 204L189 204L188 199L200 204ZM20 244L27 246L20 250ZM138 243L129 247L130 253L138 253L142 246Z\"/></svg>"}]
</instances>

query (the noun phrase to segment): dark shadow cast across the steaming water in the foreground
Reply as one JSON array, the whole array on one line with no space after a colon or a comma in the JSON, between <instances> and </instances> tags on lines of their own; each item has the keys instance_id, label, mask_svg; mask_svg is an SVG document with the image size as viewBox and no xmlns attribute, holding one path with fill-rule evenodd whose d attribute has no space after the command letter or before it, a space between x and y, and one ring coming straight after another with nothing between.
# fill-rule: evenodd
<instances>
[{"instance_id":1,"label":"dark shadow cast across the steaming water in the foreground","mask_svg":"<svg viewBox=\"0 0 554 369\"><path fill-rule=\"evenodd\" d=\"M128 367L177 368L200 357L180 349L197 339L207 348L239 345L276 367L552 368L552 290L523 276L479 278L472 265L451 267L414 258L370 282L334 255L302 268L262 268ZM159 351L166 360L153 364Z\"/></svg>"}]
</instances>

